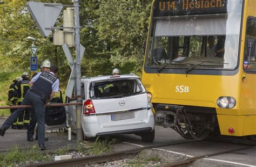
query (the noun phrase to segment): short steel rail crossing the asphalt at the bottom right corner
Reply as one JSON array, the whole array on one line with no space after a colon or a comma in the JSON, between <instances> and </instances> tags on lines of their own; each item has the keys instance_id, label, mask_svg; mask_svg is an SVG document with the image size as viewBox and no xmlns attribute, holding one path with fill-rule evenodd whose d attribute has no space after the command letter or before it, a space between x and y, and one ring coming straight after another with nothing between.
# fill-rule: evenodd
<instances>
[{"instance_id":1,"label":"short steel rail crossing the asphalt at the bottom right corner","mask_svg":"<svg viewBox=\"0 0 256 167\"><path fill-rule=\"evenodd\" d=\"M184 161L180 161L180 162L176 162L176 163L170 163L170 164L165 164L165 165L162 165L161 167L189 165L191 162L194 162L194 161L196 161L198 159L207 158L207 157L211 157L211 156L214 156L214 155L221 155L221 154L231 153L231 152L234 152L234 151L245 150L245 149L249 149L249 148L252 148L252 146L246 146L246 147L232 149L232 150L220 151L220 152L217 152L217 153L211 153L211 154L206 154L206 155L201 155L201 156L195 156L195 157L192 157L192 158L188 158L188 159L186 159Z\"/></svg>"}]
</instances>

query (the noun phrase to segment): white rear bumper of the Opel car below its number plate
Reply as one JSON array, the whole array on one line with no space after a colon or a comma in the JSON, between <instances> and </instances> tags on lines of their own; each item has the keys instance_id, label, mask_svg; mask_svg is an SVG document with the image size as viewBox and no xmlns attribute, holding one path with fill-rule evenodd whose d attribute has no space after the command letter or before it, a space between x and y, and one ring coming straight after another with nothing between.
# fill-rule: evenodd
<instances>
[{"instance_id":1,"label":"white rear bumper of the Opel car below its number plate","mask_svg":"<svg viewBox=\"0 0 256 167\"><path fill-rule=\"evenodd\" d=\"M145 120L130 122L129 124L118 124L117 122L117 124L111 126L100 126L99 122L96 121L97 116L91 116L90 121L82 117L81 123L84 135L86 137L96 137L98 135L151 132L154 129L154 115L151 109L147 112L147 119Z\"/></svg>"}]
</instances>

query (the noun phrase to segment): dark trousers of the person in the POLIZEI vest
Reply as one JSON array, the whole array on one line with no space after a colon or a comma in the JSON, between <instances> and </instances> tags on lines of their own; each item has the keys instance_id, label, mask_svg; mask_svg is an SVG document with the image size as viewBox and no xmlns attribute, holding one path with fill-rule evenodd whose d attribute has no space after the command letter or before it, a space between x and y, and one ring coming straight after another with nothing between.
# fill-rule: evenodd
<instances>
[{"instance_id":1,"label":"dark trousers of the person in the POLIZEI vest","mask_svg":"<svg viewBox=\"0 0 256 167\"><path fill-rule=\"evenodd\" d=\"M32 105L35 108L34 114L36 115L37 125L38 125L38 144L44 144L45 135L45 103L42 98L36 93L29 91L22 100L21 105ZM16 121L19 115L21 115L24 109L18 108L14 113L12 113L8 119L5 120L2 128L8 129Z\"/></svg>"}]
</instances>

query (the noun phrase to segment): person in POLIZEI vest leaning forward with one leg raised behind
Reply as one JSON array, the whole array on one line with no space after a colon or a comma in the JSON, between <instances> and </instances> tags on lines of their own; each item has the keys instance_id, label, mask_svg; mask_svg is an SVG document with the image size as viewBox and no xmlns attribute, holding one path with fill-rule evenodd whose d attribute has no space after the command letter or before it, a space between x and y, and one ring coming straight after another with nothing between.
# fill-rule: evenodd
<instances>
[{"instance_id":1,"label":"person in POLIZEI vest leaning forward with one leg raised behind","mask_svg":"<svg viewBox=\"0 0 256 167\"><path fill-rule=\"evenodd\" d=\"M43 72L39 72L31 79L29 84L32 88L26 93L25 98L22 100L21 105L32 105L35 108L35 115L38 125L38 144L41 150L45 150L45 103L50 101L55 92L59 90L59 79L50 72L51 62L44 61L42 64ZM10 128L12 123L15 122L18 115L22 114L22 108L18 108L14 113L5 120L0 128L0 135L4 136L5 130Z\"/></svg>"}]
</instances>

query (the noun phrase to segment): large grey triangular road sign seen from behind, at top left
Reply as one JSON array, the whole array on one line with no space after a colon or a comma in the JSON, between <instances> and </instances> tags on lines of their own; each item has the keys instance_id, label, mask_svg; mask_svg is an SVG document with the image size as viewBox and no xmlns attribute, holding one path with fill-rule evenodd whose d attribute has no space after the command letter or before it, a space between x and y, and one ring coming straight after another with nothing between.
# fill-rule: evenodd
<instances>
[{"instance_id":1,"label":"large grey triangular road sign seen from behind, at top left","mask_svg":"<svg viewBox=\"0 0 256 167\"><path fill-rule=\"evenodd\" d=\"M41 34L44 37L48 37L51 30L45 30L45 28L51 28L55 25L59 13L62 11L63 4L27 2L26 7L32 18L36 21Z\"/></svg>"}]
</instances>

